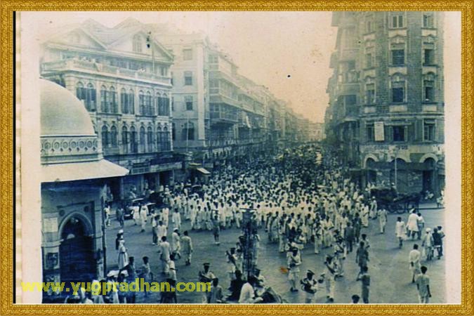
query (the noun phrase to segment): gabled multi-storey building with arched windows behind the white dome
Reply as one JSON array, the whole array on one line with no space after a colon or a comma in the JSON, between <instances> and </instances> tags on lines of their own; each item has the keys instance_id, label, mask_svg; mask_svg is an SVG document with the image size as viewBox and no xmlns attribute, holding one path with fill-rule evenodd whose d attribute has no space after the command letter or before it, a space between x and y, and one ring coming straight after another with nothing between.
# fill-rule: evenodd
<instances>
[{"instance_id":1,"label":"gabled multi-storey building with arched windows behind the white dome","mask_svg":"<svg viewBox=\"0 0 474 316\"><path fill-rule=\"evenodd\" d=\"M133 19L112 28L86 20L43 47L41 76L81 100L104 156L130 171L109 183L112 195L128 198L171 183L183 165L172 153L173 55Z\"/></svg>"}]
</instances>

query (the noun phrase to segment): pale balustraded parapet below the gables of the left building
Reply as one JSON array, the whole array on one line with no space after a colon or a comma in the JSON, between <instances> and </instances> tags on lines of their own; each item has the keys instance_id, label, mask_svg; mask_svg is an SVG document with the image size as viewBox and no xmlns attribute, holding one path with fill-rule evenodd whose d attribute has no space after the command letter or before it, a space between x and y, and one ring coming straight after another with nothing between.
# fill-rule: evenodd
<instances>
[{"instance_id":1,"label":"pale balustraded parapet below the gables of the left building","mask_svg":"<svg viewBox=\"0 0 474 316\"><path fill-rule=\"evenodd\" d=\"M123 77L124 79L137 79L154 81L160 84L171 85L170 77L158 76L150 72L140 70L130 70L99 62L88 60L67 59L54 62L44 62L41 64L41 73L66 72L66 71L89 72L94 74L108 75L110 77Z\"/></svg>"}]
</instances>

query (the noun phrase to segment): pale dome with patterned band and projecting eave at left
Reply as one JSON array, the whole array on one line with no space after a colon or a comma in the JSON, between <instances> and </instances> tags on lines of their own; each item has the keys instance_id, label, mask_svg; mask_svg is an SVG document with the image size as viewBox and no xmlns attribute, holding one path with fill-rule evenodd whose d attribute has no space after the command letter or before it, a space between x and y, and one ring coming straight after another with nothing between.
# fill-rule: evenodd
<instances>
[{"instance_id":1,"label":"pale dome with patterned band and projecting eave at left","mask_svg":"<svg viewBox=\"0 0 474 316\"><path fill-rule=\"evenodd\" d=\"M129 171L103 159L87 110L70 91L39 80L42 182L124 176Z\"/></svg>"}]
</instances>

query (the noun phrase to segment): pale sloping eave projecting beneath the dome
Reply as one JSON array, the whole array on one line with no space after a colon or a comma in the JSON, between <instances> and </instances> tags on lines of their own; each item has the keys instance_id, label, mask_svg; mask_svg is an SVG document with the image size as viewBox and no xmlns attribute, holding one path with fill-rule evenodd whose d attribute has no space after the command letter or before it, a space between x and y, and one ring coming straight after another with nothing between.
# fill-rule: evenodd
<instances>
[{"instance_id":1,"label":"pale sloping eave projecting beneath the dome","mask_svg":"<svg viewBox=\"0 0 474 316\"><path fill-rule=\"evenodd\" d=\"M105 159L95 162L70 162L41 165L41 182L62 182L126 176L129 173L118 164Z\"/></svg>"}]
</instances>

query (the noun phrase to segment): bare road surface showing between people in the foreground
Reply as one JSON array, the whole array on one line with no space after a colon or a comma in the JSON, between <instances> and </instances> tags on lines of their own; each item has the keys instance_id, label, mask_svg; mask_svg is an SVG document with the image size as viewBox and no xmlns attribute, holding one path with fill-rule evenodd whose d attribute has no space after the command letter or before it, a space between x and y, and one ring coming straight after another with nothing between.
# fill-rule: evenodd
<instances>
[{"instance_id":1,"label":"bare road surface showing between people in the foreground","mask_svg":"<svg viewBox=\"0 0 474 316\"><path fill-rule=\"evenodd\" d=\"M428 204L430 209L421 210L423 218L426 220L426 227L436 227L444 225L444 210L431 209L433 204ZM423 206L422 206L423 207ZM402 218L406 222L408 214L403 214ZM411 272L409 271L408 254L414 243L419 241L410 241L404 243L402 249L398 249L395 239L395 221L397 214L388 214L388 223L386 233L381 235L378 231L378 220L371 220L369 228L362 230L362 233L368 235L370 241L370 261L369 274L371 275L370 303L418 303L418 294L416 285L412 284ZM171 219L170 219L171 223ZM190 228L190 221L185 221L181 231ZM112 220L112 226L107 229L107 270L117 268L117 251L114 246L114 236L119 230L119 224ZM178 282L197 282L197 274L202 269L202 263L211 263L211 271L220 279L220 284L224 289L230 284L226 269L225 250L235 246L240 230L232 228L221 230L220 245L213 244L213 235L210 231L190 231L190 237L194 245L192 255L192 264L185 266L183 260L176 262L178 269ZM288 303L304 303L304 292L290 292L287 275L280 272L280 267L287 265L286 254L278 253L277 244L269 244L267 234L263 229L259 230L262 242L259 252L258 268L265 277L265 282L270 285L278 294L280 294ZM133 225L133 220L126 220L124 228L124 237L129 256L135 256L136 268L141 266L143 256L150 257L150 265L155 279L163 280L160 275L159 255L157 246L152 245L152 232L150 225L147 225L146 232L140 232L139 225ZM168 238L171 238L169 231ZM308 243L303 249L301 265L301 278L305 277L305 271L310 269L317 275L323 272L324 255L329 254L329 249L325 249L321 254L314 254L312 243ZM331 248L332 249L332 248ZM430 285L433 297L431 302L444 303L445 299L445 257L441 260L436 258L433 261L422 261L423 265L428 267L430 275ZM355 278L358 272L357 263L355 263L355 251L345 258L344 277L336 281L336 291L334 303L350 303L353 294L360 295L361 284L356 282ZM200 303L201 294L197 292L180 292L178 303ZM158 303L159 294L152 294L145 298L143 294L137 295L137 303ZM324 286L317 294L315 303L325 303L326 292Z\"/></svg>"}]
</instances>

